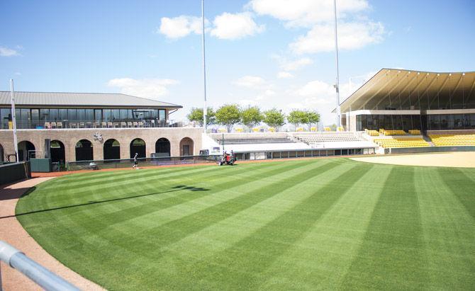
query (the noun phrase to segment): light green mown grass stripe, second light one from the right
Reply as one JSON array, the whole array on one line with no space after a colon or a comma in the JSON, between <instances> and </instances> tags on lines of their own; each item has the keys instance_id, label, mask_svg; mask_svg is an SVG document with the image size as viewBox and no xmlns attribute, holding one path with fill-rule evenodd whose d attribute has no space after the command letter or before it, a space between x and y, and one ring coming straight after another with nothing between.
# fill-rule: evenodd
<instances>
[{"instance_id":1,"label":"light green mown grass stripe, second light one from the right","mask_svg":"<svg viewBox=\"0 0 475 291\"><path fill-rule=\"evenodd\" d=\"M357 165L362 166L362 163ZM259 289L340 288L358 253L391 168L367 164L358 171L364 171L364 176L352 186L345 183L345 194L302 239L272 263L266 270L267 280L259 285Z\"/></svg>"}]
</instances>

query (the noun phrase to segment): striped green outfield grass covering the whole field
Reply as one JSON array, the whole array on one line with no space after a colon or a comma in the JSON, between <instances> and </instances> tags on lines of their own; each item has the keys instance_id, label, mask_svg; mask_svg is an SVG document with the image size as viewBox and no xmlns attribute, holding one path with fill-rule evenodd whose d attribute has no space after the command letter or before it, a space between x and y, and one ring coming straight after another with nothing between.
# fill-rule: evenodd
<instances>
[{"instance_id":1,"label":"striped green outfield grass covering the whole field","mask_svg":"<svg viewBox=\"0 0 475 291\"><path fill-rule=\"evenodd\" d=\"M475 286L475 169L348 159L85 173L16 208L112 290Z\"/></svg>"}]
</instances>

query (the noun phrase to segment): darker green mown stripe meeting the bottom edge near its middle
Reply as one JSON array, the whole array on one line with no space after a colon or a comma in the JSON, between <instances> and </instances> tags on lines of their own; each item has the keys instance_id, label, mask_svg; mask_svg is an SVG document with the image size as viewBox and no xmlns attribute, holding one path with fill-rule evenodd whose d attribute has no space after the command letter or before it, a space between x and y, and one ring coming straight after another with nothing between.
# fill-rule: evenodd
<instances>
[{"instance_id":1,"label":"darker green mown stripe meeting the bottom edge near its middle","mask_svg":"<svg viewBox=\"0 0 475 291\"><path fill-rule=\"evenodd\" d=\"M366 166L348 168L291 210L229 249L186 266L181 275L200 274L199 278L186 279L190 283L200 282L198 289L220 289L221 286L226 286L229 290L257 289L267 278L267 268L301 239L348 187L364 175L365 171L362 170L365 168ZM305 182L306 180L297 183ZM208 276L201 277L201 274Z\"/></svg>"}]
</instances>

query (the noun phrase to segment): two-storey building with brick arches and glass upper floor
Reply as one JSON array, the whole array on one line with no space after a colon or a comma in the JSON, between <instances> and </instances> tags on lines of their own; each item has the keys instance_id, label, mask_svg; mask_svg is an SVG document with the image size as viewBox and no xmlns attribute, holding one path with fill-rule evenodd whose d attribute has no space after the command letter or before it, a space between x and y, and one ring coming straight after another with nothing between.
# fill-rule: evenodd
<instances>
[{"instance_id":1,"label":"two-storey building with brick arches and glass upper floor","mask_svg":"<svg viewBox=\"0 0 475 291\"><path fill-rule=\"evenodd\" d=\"M199 154L201 128L171 120L180 105L123 94L16 92L19 160L53 162ZM14 161L10 92L0 92L0 161ZM50 140L46 149L45 139Z\"/></svg>"}]
</instances>

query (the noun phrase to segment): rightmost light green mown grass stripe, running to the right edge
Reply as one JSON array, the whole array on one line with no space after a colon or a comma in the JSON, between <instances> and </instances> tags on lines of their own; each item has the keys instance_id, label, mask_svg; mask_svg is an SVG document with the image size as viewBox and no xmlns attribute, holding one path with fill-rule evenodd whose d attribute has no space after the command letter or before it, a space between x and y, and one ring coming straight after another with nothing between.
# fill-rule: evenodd
<instances>
[{"instance_id":1,"label":"rightmost light green mown grass stripe, running to the right edge","mask_svg":"<svg viewBox=\"0 0 475 291\"><path fill-rule=\"evenodd\" d=\"M475 223L440 169L416 168L429 289L469 290L475 286Z\"/></svg>"}]
</instances>

